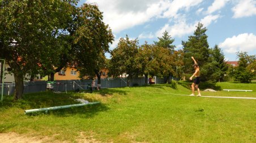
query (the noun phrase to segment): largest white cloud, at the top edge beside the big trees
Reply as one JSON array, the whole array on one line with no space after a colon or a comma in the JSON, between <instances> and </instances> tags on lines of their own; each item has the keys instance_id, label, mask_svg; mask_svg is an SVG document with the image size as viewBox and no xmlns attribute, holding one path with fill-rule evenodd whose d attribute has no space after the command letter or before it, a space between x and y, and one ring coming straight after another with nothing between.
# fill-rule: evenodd
<instances>
[{"instance_id":1,"label":"largest white cloud, at the top edge beside the big trees","mask_svg":"<svg viewBox=\"0 0 256 143\"><path fill-rule=\"evenodd\" d=\"M109 24L113 33L119 33L152 19L175 17L179 10L189 10L203 0L88 0L87 2L97 3L104 12L104 22Z\"/></svg>"}]
</instances>

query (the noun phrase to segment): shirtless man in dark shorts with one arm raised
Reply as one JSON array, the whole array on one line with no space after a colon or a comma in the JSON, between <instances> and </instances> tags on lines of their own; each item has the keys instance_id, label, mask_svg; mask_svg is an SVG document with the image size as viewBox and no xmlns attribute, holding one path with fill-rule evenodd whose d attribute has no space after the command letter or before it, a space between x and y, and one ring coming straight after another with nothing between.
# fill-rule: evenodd
<instances>
[{"instance_id":1,"label":"shirtless man in dark shorts with one arm raised","mask_svg":"<svg viewBox=\"0 0 256 143\"><path fill-rule=\"evenodd\" d=\"M198 95L197 96L201 96L200 94L200 90L198 88L198 84L200 83L200 69L199 69L199 66L197 64L197 61L195 61L194 57L191 57L191 59L195 62L195 64L193 65L193 68L195 69L195 73L189 78L190 81L192 81L192 78L194 78L194 81L191 85L191 88L192 88L192 94L190 96L195 96L195 89L197 89L198 91Z\"/></svg>"}]
</instances>

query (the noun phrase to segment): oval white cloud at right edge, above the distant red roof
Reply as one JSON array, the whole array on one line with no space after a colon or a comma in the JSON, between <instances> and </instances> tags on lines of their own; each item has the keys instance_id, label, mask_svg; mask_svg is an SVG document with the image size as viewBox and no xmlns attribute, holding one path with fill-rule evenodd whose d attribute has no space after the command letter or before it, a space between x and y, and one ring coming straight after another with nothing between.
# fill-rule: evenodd
<instances>
[{"instance_id":1,"label":"oval white cloud at right edge, above the distant red roof","mask_svg":"<svg viewBox=\"0 0 256 143\"><path fill-rule=\"evenodd\" d=\"M256 50L256 35L253 33L234 35L232 38L225 39L224 42L219 44L219 47L228 53L254 51Z\"/></svg>"}]
</instances>

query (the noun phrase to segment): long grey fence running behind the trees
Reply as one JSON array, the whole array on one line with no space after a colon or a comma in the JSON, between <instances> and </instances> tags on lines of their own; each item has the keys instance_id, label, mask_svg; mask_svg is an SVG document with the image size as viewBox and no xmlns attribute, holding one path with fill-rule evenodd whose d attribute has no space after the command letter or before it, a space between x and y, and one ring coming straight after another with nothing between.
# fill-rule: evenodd
<instances>
[{"instance_id":1,"label":"long grey fence running behind the trees","mask_svg":"<svg viewBox=\"0 0 256 143\"><path fill-rule=\"evenodd\" d=\"M156 84L164 83L164 79L156 78ZM88 90L91 87L92 80L62 80L54 81L53 91L56 92L66 92L72 90ZM24 93L40 92L46 91L47 81L36 81L36 82L25 82L24 83ZM109 78L101 79L101 85L97 85L97 80L95 81L95 86L100 86L101 88L116 88L116 87L126 87L126 78ZM130 81L130 86L144 86L145 78L133 78ZM2 88L2 83L0 83L0 89ZM15 83L4 83L3 84L3 95L14 94Z\"/></svg>"}]
</instances>

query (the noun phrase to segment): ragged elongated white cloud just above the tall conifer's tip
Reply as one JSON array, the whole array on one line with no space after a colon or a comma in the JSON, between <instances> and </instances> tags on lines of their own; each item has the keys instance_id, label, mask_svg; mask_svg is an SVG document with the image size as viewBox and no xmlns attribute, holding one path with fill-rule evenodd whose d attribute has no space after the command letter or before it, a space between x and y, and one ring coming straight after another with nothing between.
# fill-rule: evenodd
<instances>
[{"instance_id":1,"label":"ragged elongated white cloud just above the tall conifer's tip","mask_svg":"<svg viewBox=\"0 0 256 143\"><path fill-rule=\"evenodd\" d=\"M203 19L200 20L200 23L203 24L204 27L207 27L210 25L213 21L216 22L216 20L220 17L220 15L207 15ZM178 21L176 21L176 24L169 25L165 24L163 28L158 30L156 32L157 37L161 37L165 30L172 36L172 37L182 37L184 35L193 33L195 30L195 26L197 26L199 21L195 21L194 24L187 24L185 17L180 17Z\"/></svg>"}]
</instances>

